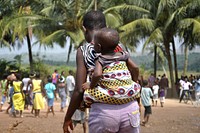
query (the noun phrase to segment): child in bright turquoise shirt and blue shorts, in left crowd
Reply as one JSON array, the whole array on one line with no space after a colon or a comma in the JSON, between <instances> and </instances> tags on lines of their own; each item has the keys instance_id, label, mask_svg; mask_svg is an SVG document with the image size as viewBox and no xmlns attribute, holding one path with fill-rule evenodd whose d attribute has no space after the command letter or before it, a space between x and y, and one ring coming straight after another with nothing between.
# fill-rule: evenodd
<instances>
[{"instance_id":1,"label":"child in bright turquoise shirt and blue shorts, in left crowd","mask_svg":"<svg viewBox=\"0 0 200 133\"><path fill-rule=\"evenodd\" d=\"M48 83L44 87L44 89L46 90L47 103L48 103L46 117L48 117L50 110L52 111L53 115L55 115L54 109L53 109L53 102L54 102L54 96L55 96L55 90L56 90L56 86L52 83L51 76L48 76L47 80L48 80Z\"/></svg>"}]
</instances>

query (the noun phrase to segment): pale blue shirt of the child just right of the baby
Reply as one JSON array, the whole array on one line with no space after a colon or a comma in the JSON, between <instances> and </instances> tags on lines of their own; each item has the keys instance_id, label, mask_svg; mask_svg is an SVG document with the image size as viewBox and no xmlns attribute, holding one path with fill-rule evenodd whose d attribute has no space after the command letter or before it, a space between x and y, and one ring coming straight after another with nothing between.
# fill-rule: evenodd
<instances>
[{"instance_id":1,"label":"pale blue shirt of the child just right of the baby","mask_svg":"<svg viewBox=\"0 0 200 133\"><path fill-rule=\"evenodd\" d=\"M152 96L153 96L153 93L150 88L142 87L141 101L142 101L143 106L151 106L150 98Z\"/></svg>"}]
</instances>

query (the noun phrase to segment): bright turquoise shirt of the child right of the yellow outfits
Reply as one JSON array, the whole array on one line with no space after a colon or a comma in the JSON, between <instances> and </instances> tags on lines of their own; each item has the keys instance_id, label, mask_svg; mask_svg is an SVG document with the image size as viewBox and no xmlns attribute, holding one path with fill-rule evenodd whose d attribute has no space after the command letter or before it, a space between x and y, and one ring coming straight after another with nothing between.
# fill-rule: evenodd
<instances>
[{"instance_id":1,"label":"bright turquoise shirt of the child right of the yellow outfits","mask_svg":"<svg viewBox=\"0 0 200 133\"><path fill-rule=\"evenodd\" d=\"M47 83L44 87L46 90L47 98L54 98L54 91L56 90L56 86L53 83Z\"/></svg>"}]
</instances>

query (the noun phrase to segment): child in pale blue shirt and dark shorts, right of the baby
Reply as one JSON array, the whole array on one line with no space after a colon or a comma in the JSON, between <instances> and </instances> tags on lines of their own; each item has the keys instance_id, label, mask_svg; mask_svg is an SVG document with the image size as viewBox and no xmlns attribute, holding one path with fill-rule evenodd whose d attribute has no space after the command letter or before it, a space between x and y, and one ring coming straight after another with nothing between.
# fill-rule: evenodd
<instances>
[{"instance_id":1,"label":"child in pale blue shirt and dark shorts, right of the baby","mask_svg":"<svg viewBox=\"0 0 200 133\"><path fill-rule=\"evenodd\" d=\"M153 98L153 93L151 91L151 88L148 87L147 85L148 85L148 81L144 80L142 91L141 91L141 101L142 101L142 104L145 108L145 110L144 110L144 120L142 121L142 124L141 124L142 126L145 126L148 123L150 114L152 114L151 99L150 98Z\"/></svg>"}]
</instances>

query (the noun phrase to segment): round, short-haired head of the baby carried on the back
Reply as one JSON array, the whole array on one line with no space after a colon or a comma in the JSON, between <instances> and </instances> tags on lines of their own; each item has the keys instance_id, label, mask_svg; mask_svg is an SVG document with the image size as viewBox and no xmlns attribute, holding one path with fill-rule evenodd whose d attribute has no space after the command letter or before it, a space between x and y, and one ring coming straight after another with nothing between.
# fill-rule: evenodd
<instances>
[{"instance_id":1,"label":"round, short-haired head of the baby carried on the back","mask_svg":"<svg viewBox=\"0 0 200 133\"><path fill-rule=\"evenodd\" d=\"M96 52L114 51L119 43L119 34L116 30L110 28L102 28L95 34L94 49Z\"/></svg>"}]
</instances>

